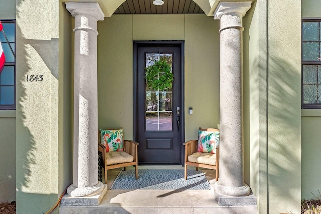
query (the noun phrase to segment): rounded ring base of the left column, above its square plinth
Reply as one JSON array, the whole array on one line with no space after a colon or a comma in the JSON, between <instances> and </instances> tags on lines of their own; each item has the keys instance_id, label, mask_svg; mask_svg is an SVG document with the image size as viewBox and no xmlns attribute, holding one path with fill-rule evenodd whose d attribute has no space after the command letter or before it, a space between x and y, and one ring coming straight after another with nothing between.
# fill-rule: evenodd
<instances>
[{"instance_id":1,"label":"rounded ring base of the left column, above its square plinth","mask_svg":"<svg viewBox=\"0 0 321 214\"><path fill-rule=\"evenodd\" d=\"M73 184L71 184L67 188L67 193L73 197L94 196L94 195L100 194L103 191L103 189L104 189L104 184L98 181L97 185L91 186L91 187L85 187L85 188L74 187Z\"/></svg>"}]
</instances>

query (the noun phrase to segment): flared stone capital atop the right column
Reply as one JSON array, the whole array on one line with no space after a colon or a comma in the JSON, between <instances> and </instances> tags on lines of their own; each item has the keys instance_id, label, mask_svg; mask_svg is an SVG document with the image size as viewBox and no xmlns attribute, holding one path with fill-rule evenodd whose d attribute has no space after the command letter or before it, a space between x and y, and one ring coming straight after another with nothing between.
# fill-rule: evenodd
<instances>
[{"instance_id":1,"label":"flared stone capital atop the right column","mask_svg":"<svg viewBox=\"0 0 321 214\"><path fill-rule=\"evenodd\" d=\"M243 17L251 8L251 3L252 1L222 1L214 11L214 19L221 19L224 14L240 14Z\"/></svg>"}]
</instances>

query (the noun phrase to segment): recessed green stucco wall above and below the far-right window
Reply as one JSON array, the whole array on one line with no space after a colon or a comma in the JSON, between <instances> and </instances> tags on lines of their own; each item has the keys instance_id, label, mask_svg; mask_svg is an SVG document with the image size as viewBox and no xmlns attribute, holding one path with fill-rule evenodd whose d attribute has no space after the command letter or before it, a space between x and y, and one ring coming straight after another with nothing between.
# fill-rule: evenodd
<instances>
[{"instance_id":1,"label":"recessed green stucco wall above and below the far-right window","mask_svg":"<svg viewBox=\"0 0 321 214\"><path fill-rule=\"evenodd\" d=\"M302 18L321 18L317 0L302 0ZM313 199L321 191L321 110L302 110L302 199Z\"/></svg>"}]
</instances>

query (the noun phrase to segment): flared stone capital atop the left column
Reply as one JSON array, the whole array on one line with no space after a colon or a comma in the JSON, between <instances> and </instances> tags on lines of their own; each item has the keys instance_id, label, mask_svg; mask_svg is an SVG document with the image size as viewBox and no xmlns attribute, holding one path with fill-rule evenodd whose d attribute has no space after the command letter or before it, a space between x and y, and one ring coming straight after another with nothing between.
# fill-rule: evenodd
<instances>
[{"instance_id":1,"label":"flared stone capital atop the left column","mask_svg":"<svg viewBox=\"0 0 321 214\"><path fill-rule=\"evenodd\" d=\"M102 12L97 2L66 2L66 9L75 17L78 14L87 14L98 20L104 20Z\"/></svg>"}]
</instances>

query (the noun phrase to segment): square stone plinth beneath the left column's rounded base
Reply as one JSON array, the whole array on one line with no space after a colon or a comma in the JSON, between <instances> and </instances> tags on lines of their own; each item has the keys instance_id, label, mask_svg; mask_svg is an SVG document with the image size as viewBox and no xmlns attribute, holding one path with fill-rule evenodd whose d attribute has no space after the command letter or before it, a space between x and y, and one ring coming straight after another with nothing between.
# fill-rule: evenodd
<instances>
[{"instance_id":1,"label":"square stone plinth beneath the left column's rounded base","mask_svg":"<svg viewBox=\"0 0 321 214\"><path fill-rule=\"evenodd\" d=\"M98 206L100 201L107 192L107 185L102 185L102 191L95 194L94 196L76 197L71 196L69 194L65 194L61 199L60 206Z\"/></svg>"}]
</instances>

